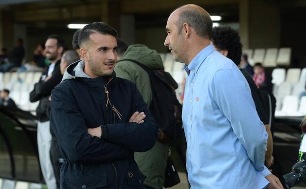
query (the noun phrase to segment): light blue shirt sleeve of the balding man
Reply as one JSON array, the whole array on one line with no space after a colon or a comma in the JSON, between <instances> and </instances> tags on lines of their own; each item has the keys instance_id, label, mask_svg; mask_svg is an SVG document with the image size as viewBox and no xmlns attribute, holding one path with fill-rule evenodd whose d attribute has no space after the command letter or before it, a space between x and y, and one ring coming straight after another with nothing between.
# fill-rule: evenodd
<instances>
[{"instance_id":1,"label":"light blue shirt sleeve of the balding man","mask_svg":"<svg viewBox=\"0 0 306 189\"><path fill-rule=\"evenodd\" d=\"M211 89L216 105L229 120L255 169L263 171L268 135L256 112L247 81L241 73L223 69L215 73Z\"/></svg>"}]
</instances>

